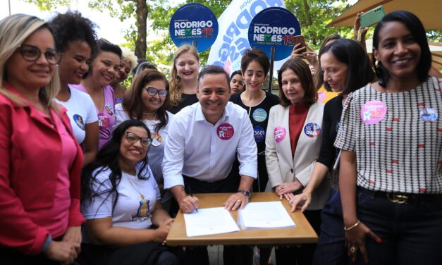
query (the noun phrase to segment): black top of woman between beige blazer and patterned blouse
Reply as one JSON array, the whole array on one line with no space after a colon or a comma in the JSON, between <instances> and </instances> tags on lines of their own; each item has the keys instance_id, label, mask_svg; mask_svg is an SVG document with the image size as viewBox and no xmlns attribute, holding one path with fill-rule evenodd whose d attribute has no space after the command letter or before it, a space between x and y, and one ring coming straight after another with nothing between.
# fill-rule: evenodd
<instances>
[{"instance_id":1,"label":"black top of woman between beige blazer and patterned blouse","mask_svg":"<svg viewBox=\"0 0 442 265\"><path fill-rule=\"evenodd\" d=\"M329 169L333 169L339 149L333 146L338 135L340 115L343 110L342 106L343 96L338 95L328 101L324 106L324 116L322 118L322 142L321 150L319 151L319 158L317 162L324 164Z\"/></svg>"}]
</instances>

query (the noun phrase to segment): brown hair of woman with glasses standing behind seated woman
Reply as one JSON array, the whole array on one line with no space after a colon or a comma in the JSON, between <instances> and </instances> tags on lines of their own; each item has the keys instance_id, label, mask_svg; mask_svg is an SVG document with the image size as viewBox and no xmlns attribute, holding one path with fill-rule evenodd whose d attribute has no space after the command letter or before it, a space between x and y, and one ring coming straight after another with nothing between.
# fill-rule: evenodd
<instances>
[{"instance_id":1,"label":"brown hair of woman with glasses standing behind seated woman","mask_svg":"<svg viewBox=\"0 0 442 265\"><path fill-rule=\"evenodd\" d=\"M125 113L128 113L130 118L136 118L138 120L142 119L142 106L144 105L141 94L142 90L145 89L145 86L152 81L161 80L166 85L166 90L169 91L169 86L167 82L166 76L160 73L157 70L153 69L145 69L142 70L135 79L133 80L132 85L130 86L130 90L124 95L123 102L121 102L121 106L123 106L123 110ZM161 128L164 128L168 123L168 115L166 113L166 109L168 108L170 99L169 94L167 94L164 99L163 105L161 105L156 110L156 115L159 118L159 123L155 125L155 132L159 132Z\"/></svg>"}]
</instances>

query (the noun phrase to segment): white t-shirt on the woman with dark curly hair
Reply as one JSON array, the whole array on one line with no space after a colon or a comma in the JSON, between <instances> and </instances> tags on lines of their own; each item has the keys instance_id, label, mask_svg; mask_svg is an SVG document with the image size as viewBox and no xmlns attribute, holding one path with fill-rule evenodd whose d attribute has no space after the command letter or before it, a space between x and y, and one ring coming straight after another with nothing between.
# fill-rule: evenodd
<instances>
[{"instance_id":1,"label":"white t-shirt on the woman with dark curly hair","mask_svg":"<svg viewBox=\"0 0 442 265\"><path fill-rule=\"evenodd\" d=\"M68 110L67 113L75 139L81 144L86 136L85 125L98 121L97 112L95 111L94 101L92 101L90 95L71 87L69 90L70 98L68 101L65 102L59 99L55 99L55 101Z\"/></svg>"}]
</instances>

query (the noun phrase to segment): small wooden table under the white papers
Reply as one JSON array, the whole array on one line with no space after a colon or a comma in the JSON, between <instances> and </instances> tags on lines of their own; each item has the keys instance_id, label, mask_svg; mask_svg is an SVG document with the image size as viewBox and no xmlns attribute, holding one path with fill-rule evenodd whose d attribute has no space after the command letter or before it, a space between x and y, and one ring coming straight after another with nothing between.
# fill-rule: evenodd
<instances>
[{"instance_id":1,"label":"small wooden table under the white papers","mask_svg":"<svg viewBox=\"0 0 442 265\"><path fill-rule=\"evenodd\" d=\"M199 208L222 207L231 193L208 193L195 195L199 199ZM274 192L254 192L250 202L279 201ZM175 222L166 238L170 246L202 245L291 245L317 242L318 236L301 211L290 212L290 204L283 199L283 206L295 221L296 228L248 229L240 232L218 235L186 236L184 216L178 212ZM231 211L237 221L238 211Z\"/></svg>"}]
</instances>

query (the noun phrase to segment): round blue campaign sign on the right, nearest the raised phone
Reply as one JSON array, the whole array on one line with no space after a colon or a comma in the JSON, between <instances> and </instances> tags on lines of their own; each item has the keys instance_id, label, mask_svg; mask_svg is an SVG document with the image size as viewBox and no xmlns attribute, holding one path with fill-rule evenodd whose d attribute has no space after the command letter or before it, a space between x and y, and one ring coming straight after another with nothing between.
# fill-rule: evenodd
<instances>
[{"instance_id":1,"label":"round blue campaign sign on the right, nearest the raised phone","mask_svg":"<svg viewBox=\"0 0 442 265\"><path fill-rule=\"evenodd\" d=\"M275 61L290 56L295 36L301 35L300 23L286 8L271 7L257 13L249 26L250 47L258 47L270 58L275 47Z\"/></svg>"}]
</instances>

